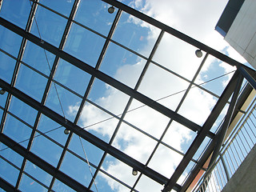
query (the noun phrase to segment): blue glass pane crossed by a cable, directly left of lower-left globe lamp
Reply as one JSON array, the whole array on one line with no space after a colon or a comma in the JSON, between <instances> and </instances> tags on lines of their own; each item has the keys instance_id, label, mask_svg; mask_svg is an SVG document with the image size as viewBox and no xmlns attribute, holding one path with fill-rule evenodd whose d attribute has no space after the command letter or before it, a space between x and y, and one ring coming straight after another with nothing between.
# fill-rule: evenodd
<instances>
[{"instance_id":1,"label":"blue glass pane crossed by a cable, directly left of lower-left globe lamp","mask_svg":"<svg viewBox=\"0 0 256 192\"><path fill-rule=\"evenodd\" d=\"M57 122L54 122L43 114L38 124L38 130L40 130L42 133L46 134L50 138L53 138L58 143L62 144L62 146L65 146L66 138L68 137L68 135L63 134L65 127L60 126ZM39 135L39 133L37 133L36 135Z\"/></svg>"}]
</instances>

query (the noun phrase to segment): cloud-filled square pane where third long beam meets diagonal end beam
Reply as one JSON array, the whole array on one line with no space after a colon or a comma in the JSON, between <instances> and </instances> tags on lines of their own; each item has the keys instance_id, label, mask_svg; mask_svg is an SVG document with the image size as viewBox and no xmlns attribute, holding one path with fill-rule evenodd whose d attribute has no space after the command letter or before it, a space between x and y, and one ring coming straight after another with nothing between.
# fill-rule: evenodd
<instances>
[{"instance_id":1,"label":"cloud-filled square pane where third long beam meets diagonal end beam","mask_svg":"<svg viewBox=\"0 0 256 192\"><path fill-rule=\"evenodd\" d=\"M149 163L149 167L166 176L166 178L170 178L182 158L182 155L160 144Z\"/></svg>"}]
</instances>

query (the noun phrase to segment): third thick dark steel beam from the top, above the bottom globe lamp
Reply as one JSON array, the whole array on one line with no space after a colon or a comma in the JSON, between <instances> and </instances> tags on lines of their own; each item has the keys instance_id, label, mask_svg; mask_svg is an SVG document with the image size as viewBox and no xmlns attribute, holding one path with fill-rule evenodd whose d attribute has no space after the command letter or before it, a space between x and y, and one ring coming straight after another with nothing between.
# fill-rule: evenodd
<instances>
[{"instance_id":1,"label":"third thick dark steel beam from the top, above the bottom globe lamp","mask_svg":"<svg viewBox=\"0 0 256 192\"><path fill-rule=\"evenodd\" d=\"M4 82L0 79L0 86L14 95L14 97L20 99L22 102L25 102L29 106L33 107L35 110L38 110L42 114L45 114L48 118L51 118L58 124L66 127L66 129L71 130L74 134L86 139L86 141L92 143L94 146L97 146L101 150L106 151L106 153L112 155L114 158L126 163L128 166L134 167L134 169L140 171L142 174L145 174L147 177L153 179L155 182L160 184L166 184L168 178L162 176L158 172L150 169L149 167L144 166L141 162L138 162L134 158L131 158L127 154L122 151L114 148L114 146L110 146L108 143L102 141L100 138L94 136L94 134L90 134L88 131L83 130L80 126L75 125L73 122L70 122L66 118L62 117L60 114L57 114L53 110L50 110L46 106L42 106L40 102L34 100L34 98L30 98L30 96L24 94L22 91L11 87L10 84ZM57 177L56 177L57 178Z\"/></svg>"}]
</instances>

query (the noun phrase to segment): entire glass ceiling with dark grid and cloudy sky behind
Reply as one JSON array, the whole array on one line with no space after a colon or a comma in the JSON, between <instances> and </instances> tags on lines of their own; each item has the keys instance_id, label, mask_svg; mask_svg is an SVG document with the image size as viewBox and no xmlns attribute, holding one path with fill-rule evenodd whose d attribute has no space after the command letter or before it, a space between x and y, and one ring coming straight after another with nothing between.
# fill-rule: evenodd
<instances>
[{"instance_id":1,"label":"entire glass ceiling with dark grid and cloudy sky behind","mask_svg":"<svg viewBox=\"0 0 256 192\"><path fill-rule=\"evenodd\" d=\"M180 190L238 62L114 0L0 2L2 191Z\"/></svg>"}]
</instances>

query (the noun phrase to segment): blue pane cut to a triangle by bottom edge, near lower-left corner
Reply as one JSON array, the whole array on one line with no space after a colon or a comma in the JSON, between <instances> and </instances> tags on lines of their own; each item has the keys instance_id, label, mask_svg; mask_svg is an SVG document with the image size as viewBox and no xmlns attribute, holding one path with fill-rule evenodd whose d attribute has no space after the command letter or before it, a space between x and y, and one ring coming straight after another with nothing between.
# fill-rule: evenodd
<instances>
[{"instance_id":1,"label":"blue pane cut to a triangle by bottom edge, near lower-left corner","mask_svg":"<svg viewBox=\"0 0 256 192\"><path fill-rule=\"evenodd\" d=\"M48 191L45 187L40 185L38 182L35 182L32 178L29 178L26 174L22 174L22 180L18 187L18 190L26 191L26 192L34 192L34 191Z\"/></svg>"}]
</instances>

